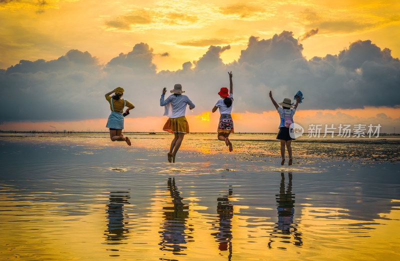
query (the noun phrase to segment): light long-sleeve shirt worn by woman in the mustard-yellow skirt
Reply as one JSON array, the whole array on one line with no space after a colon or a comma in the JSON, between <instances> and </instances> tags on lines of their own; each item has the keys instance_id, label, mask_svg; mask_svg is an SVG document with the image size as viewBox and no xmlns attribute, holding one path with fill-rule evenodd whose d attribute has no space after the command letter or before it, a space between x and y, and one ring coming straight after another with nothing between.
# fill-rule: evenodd
<instances>
[{"instance_id":1,"label":"light long-sleeve shirt worn by woman in the mustard-yellow skirt","mask_svg":"<svg viewBox=\"0 0 400 261\"><path fill-rule=\"evenodd\" d=\"M164 94L161 94L159 99L159 105L165 106L164 115L170 118L177 118L184 116L186 112L186 105L194 108L194 103L186 96L182 94L171 94L164 100Z\"/></svg>"}]
</instances>

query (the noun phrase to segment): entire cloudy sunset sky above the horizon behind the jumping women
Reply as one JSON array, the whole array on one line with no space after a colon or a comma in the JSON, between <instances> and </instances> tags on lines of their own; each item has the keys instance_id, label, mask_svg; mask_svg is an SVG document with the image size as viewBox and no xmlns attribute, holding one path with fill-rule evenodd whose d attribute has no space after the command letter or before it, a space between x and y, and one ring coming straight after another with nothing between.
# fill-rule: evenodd
<instances>
[{"instance_id":1,"label":"entire cloudy sunset sky above the horizon behind the jumping women","mask_svg":"<svg viewBox=\"0 0 400 261\"><path fill-rule=\"evenodd\" d=\"M305 129L400 131L395 0L0 0L0 18L1 130L106 130L104 94L122 86L125 130L160 131L161 89L181 83L191 131L216 131L232 71L236 131L277 131L269 90L303 92Z\"/></svg>"}]
</instances>

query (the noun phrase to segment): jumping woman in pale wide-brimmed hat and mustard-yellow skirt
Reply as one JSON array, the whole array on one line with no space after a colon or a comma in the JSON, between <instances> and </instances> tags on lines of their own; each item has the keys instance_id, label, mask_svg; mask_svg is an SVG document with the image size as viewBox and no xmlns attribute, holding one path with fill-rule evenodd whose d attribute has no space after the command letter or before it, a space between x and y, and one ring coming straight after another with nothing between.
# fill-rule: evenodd
<instances>
[{"instance_id":1,"label":"jumping woman in pale wide-brimmed hat and mustard-yellow skirt","mask_svg":"<svg viewBox=\"0 0 400 261\"><path fill-rule=\"evenodd\" d=\"M189 124L184 116L186 105L189 104L189 109L193 109L194 104L186 95L182 95L184 90L179 83L173 86L173 89L170 90L172 94L164 100L165 92L166 88L163 88L159 99L159 105L165 107L164 115L168 116L162 129L175 135L168 152L168 161L175 163L175 155L182 143L184 134L189 133Z\"/></svg>"}]
</instances>

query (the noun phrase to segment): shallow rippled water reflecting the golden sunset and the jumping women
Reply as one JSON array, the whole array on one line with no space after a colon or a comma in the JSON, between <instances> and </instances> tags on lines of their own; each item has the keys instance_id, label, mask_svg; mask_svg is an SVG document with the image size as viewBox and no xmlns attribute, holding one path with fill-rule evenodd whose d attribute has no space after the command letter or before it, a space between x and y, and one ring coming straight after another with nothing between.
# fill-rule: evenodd
<instances>
[{"instance_id":1,"label":"shallow rippled water reflecting the golden sunset and the jumping women","mask_svg":"<svg viewBox=\"0 0 400 261\"><path fill-rule=\"evenodd\" d=\"M398 145L293 141L281 166L273 137L235 135L233 153L213 138L187 135L172 164L171 135L0 137L0 255L399 259Z\"/></svg>"}]
</instances>

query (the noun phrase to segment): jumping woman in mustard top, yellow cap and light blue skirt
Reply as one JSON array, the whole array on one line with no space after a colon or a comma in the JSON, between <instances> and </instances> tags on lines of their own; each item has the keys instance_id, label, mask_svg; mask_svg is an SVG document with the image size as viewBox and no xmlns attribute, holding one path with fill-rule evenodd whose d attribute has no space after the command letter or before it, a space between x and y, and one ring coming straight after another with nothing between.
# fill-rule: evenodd
<instances>
[{"instance_id":1,"label":"jumping woman in mustard top, yellow cap and light blue skirt","mask_svg":"<svg viewBox=\"0 0 400 261\"><path fill-rule=\"evenodd\" d=\"M115 94L110 97L109 95L114 92ZM105 93L105 99L109 102L109 107L111 109L111 114L108 116L107 125L105 127L109 128L109 137L112 141L126 141L126 143L130 146L130 140L128 137L124 137L122 135L123 129L123 108L128 107L125 110L126 114L129 114L129 109L134 108L132 103L127 100L121 99L123 95L123 88L116 87L110 92Z\"/></svg>"}]
</instances>

